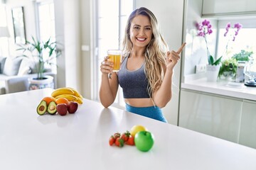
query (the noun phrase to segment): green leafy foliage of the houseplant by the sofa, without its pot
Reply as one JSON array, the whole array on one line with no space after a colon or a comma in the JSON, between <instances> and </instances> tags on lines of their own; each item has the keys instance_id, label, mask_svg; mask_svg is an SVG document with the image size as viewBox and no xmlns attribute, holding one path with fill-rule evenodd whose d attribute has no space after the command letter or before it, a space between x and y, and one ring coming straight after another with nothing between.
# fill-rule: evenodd
<instances>
[{"instance_id":1,"label":"green leafy foliage of the houseplant by the sofa, without its pot","mask_svg":"<svg viewBox=\"0 0 256 170\"><path fill-rule=\"evenodd\" d=\"M57 49L57 42L51 42L49 38L46 42L36 40L33 41L26 40L25 45L18 45L17 50L23 51L23 57L28 57L33 60L36 65L37 79L45 79L43 73L45 72L45 66L47 64L54 64L53 60L61 55L61 50ZM26 55L28 52L28 55Z\"/></svg>"}]
</instances>

